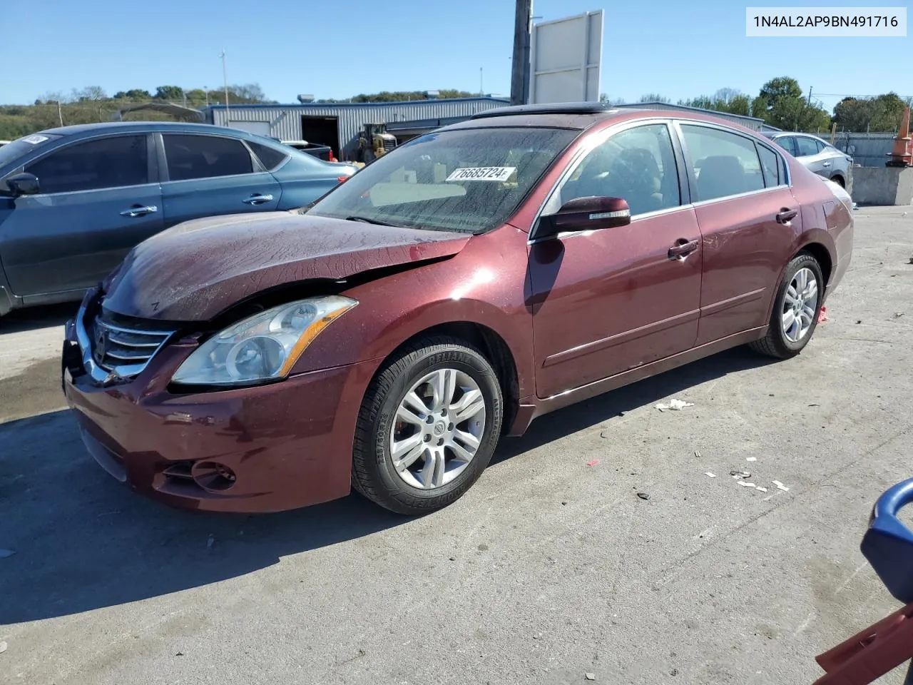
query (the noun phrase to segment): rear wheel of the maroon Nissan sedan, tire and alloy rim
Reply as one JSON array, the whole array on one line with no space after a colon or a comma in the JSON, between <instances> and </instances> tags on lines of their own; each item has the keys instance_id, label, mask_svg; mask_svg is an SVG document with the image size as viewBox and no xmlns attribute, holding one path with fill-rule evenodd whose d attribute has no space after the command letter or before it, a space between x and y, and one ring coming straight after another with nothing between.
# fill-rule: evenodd
<instances>
[{"instance_id":1,"label":"rear wheel of the maroon Nissan sedan, tire and alloy rim","mask_svg":"<svg viewBox=\"0 0 913 685\"><path fill-rule=\"evenodd\" d=\"M750 342L757 353L789 359L812 339L824 301L824 277L818 260L800 252L790 260L773 300L767 335Z\"/></svg>"}]
</instances>

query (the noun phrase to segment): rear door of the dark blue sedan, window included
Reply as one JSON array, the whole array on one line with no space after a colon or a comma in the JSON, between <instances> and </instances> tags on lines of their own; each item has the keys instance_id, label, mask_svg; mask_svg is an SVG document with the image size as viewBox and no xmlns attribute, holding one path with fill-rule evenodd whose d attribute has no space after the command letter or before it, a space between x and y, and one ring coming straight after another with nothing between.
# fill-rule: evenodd
<instances>
[{"instance_id":1,"label":"rear door of the dark blue sedan, window included","mask_svg":"<svg viewBox=\"0 0 913 685\"><path fill-rule=\"evenodd\" d=\"M238 138L163 133L162 155L166 227L202 216L278 208L281 186Z\"/></svg>"}]
</instances>

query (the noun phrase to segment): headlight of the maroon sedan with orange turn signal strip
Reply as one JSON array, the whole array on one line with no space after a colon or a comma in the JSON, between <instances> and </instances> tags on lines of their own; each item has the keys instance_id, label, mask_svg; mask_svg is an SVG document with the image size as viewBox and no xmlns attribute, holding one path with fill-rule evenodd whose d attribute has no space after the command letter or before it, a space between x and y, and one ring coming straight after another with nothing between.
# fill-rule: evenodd
<instances>
[{"instance_id":1,"label":"headlight of the maroon sedan with orange turn signal strip","mask_svg":"<svg viewBox=\"0 0 913 685\"><path fill-rule=\"evenodd\" d=\"M247 385L284 378L310 342L356 304L329 295L261 311L200 345L172 380L184 385Z\"/></svg>"}]
</instances>

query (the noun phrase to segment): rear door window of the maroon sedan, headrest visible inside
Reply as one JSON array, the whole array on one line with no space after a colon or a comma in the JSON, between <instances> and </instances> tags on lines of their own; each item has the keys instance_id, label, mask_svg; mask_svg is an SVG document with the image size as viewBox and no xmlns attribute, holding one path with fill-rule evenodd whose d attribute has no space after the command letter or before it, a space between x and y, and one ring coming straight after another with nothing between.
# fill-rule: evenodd
<instances>
[{"instance_id":1,"label":"rear door window of the maroon sedan, headrest visible inside","mask_svg":"<svg viewBox=\"0 0 913 685\"><path fill-rule=\"evenodd\" d=\"M683 124L685 147L697 181L698 201L764 188L754 141L736 132Z\"/></svg>"}]
</instances>

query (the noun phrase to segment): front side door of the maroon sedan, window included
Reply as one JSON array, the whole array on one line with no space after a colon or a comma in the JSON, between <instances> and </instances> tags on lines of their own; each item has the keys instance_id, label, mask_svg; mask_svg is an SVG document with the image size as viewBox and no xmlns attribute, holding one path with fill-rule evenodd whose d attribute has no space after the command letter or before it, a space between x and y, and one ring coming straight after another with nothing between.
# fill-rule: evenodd
<instances>
[{"instance_id":1,"label":"front side door of the maroon sedan, window included","mask_svg":"<svg viewBox=\"0 0 913 685\"><path fill-rule=\"evenodd\" d=\"M602 135L602 134L597 134ZM701 249L682 201L683 164L666 122L613 132L543 210L622 197L628 226L530 241L536 392L550 397L684 352L698 335Z\"/></svg>"}]
</instances>

